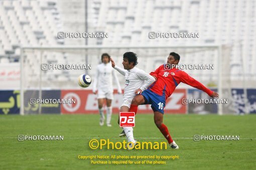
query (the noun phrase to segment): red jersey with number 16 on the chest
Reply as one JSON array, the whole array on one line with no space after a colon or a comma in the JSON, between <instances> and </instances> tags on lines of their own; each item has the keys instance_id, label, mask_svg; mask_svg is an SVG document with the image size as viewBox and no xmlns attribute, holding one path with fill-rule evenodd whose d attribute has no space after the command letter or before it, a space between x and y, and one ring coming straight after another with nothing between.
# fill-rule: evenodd
<instances>
[{"instance_id":1,"label":"red jersey with number 16 on the chest","mask_svg":"<svg viewBox=\"0 0 256 170\"><path fill-rule=\"evenodd\" d=\"M150 85L148 89L157 93L158 95L163 95L163 93L165 93L165 99L167 99L173 93L180 82L201 89L210 96L213 93L212 90L205 87L202 83L189 76L186 72L177 68L167 70L164 69L164 65L161 65L154 72L151 72L150 75L156 76L157 80Z\"/></svg>"}]
</instances>

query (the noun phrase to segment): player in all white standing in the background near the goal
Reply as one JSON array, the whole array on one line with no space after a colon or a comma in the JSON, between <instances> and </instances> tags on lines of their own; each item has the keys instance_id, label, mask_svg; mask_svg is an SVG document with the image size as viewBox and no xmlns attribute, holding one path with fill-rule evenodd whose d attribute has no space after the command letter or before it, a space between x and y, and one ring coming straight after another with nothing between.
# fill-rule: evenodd
<instances>
[{"instance_id":1,"label":"player in all white standing in the background near the goal","mask_svg":"<svg viewBox=\"0 0 256 170\"><path fill-rule=\"evenodd\" d=\"M97 65L96 75L93 84L93 93L96 94L97 91L97 99L98 99L98 109L100 114L99 125L104 125L104 110L103 104L104 100L106 100L106 125L111 126L110 120L112 115L112 106L111 102L113 99L113 82L112 78L115 79L117 84L117 91L121 93L121 87L119 81L116 76L115 70L112 68L110 61L110 55L107 53L103 53L101 55L102 63ZM98 90L97 90L98 89Z\"/></svg>"}]
</instances>

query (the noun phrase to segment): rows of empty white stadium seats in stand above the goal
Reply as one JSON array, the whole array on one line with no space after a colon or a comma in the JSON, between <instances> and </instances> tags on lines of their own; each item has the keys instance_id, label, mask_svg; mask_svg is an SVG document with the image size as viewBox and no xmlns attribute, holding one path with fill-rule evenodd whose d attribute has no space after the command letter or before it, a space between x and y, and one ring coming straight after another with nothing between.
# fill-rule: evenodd
<instances>
[{"instance_id":1,"label":"rows of empty white stadium seats in stand above the goal","mask_svg":"<svg viewBox=\"0 0 256 170\"><path fill-rule=\"evenodd\" d=\"M68 5L64 6L61 0L0 0L0 56L6 58L11 55L19 56L20 50L17 46L65 44L64 39L57 38L57 32L64 30L62 19L74 23L76 15L62 12L69 8L72 11L76 10L77 6L73 3L77 0L65 2ZM229 57L231 74L237 74L241 68L240 61L236 59L237 55L248 60L247 73L256 72L256 66L253 64L256 63L254 0L89 0L88 2L90 2L88 30L108 32L111 37L89 40L89 45L229 44L233 45L234 49L231 51L232 57ZM83 7L81 8L84 10ZM84 20L79 23L82 25L79 30L84 30ZM78 28L77 30L70 28L70 30L77 31ZM148 37L149 31L199 32L200 38L153 40ZM81 41L84 42L84 39L76 41L70 38L68 41L69 44L83 45ZM47 59L62 60L65 63L81 62L69 60L69 57L63 60L63 55L50 52ZM202 51L194 60L184 55L183 62L196 63L196 60L209 55L211 52ZM32 58L29 60L33 67L35 60ZM212 59L212 62L216 60ZM202 75L206 77L207 71Z\"/></svg>"}]
</instances>

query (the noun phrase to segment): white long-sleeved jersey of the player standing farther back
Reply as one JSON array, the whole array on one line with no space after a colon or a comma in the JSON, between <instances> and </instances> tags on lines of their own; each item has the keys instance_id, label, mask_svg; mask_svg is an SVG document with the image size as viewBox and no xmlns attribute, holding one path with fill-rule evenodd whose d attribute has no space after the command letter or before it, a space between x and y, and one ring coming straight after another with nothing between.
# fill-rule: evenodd
<instances>
[{"instance_id":1,"label":"white long-sleeved jersey of the player standing farther back","mask_svg":"<svg viewBox=\"0 0 256 170\"><path fill-rule=\"evenodd\" d=\"M98 91L113 92L113 78L117 84L118 92L121 92L121 87L111 62L98 64L92 91L95 92L98 89Z\"/></svg>"}]
</instances>

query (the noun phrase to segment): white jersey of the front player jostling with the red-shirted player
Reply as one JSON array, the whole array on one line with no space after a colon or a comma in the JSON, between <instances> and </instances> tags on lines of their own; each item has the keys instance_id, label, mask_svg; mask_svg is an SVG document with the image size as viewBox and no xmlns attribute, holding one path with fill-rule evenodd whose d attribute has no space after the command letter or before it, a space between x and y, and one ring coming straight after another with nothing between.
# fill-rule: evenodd
<instances>
[{"instance_id":1,"label":"white jersey of the front player jostling with the red-shirted player","mask_svg":"<svg viewBox=\"0 0 256 170\"><path fill-rule=\"evenodd\" d=\"M126 70L115 65L114 68L125 76L123 100L132 101L137 89L145 90L155 81L152 75L137 67Z\"/></svg>"}]
</instances>

